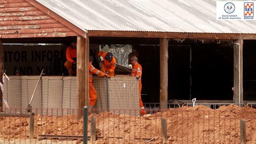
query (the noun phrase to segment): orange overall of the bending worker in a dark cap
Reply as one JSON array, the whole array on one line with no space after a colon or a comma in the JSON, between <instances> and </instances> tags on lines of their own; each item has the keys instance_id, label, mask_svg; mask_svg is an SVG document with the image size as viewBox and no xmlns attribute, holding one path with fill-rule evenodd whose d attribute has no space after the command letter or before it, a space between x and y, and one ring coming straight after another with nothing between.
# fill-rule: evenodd
<instances>
[{"instance_id":1,"label":"orange overall of the bending worker in a dark cap","mask_svg":"<svg viewBox=\"0 0 256 144\"><path fill-rule=\"evenodd\" d=\"M104 59L104 63L102 63L100 71L102 72L104 72L104 70L105 72L109 71L110 76L115 76L115 63L116 63L115 57L113 57L112 61L109 62L105 59L106 54L107 54L106 52L102 52L102 51L98 53L98 56L102 56Z\"/></svg>"}]
</instances>

